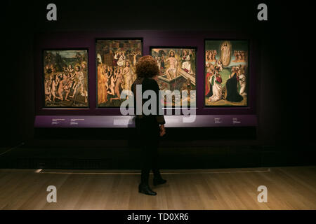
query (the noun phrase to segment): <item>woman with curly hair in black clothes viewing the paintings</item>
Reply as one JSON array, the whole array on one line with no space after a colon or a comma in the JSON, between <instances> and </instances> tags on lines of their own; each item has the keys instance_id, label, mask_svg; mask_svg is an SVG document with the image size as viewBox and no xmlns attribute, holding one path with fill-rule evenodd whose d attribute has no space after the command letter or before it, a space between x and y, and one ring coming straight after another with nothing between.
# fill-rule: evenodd
<instances>
[{"instance_id":1,"label":"woman with curly hair in black clothes viewing the paintings","mask_svg":"<svg viewBox=\"0 0 316 224\"><path fill-rule=\"evenodd\" d=\"M157 195L149 186L149 174L150 170L154 173L154 186L158 184L166 183L166 180L162 179L157 165L157 154L158 154L158 141L159 136L163 136L166 133L164 129L164 116L159 115L159 107L162 106L159 102L159 86L157 84L157 75L159 69L157 61L150 55L141 57L136 64L137 78L134 81L131 89L134 94L134 105L142 106L146 100L142 100L142 104L136 104L136 94L142 94L146 90L152 90L156 93L157 99L157 111L156 113L150 113L150 115L136 115L136 132L138 136L138 142L140 142L141 148L141 160L143 162L141 181L138 186L138 192L145 195ZM142 92L136 92L136 86L141 85ZM142 98L142 97L140 97Z\"/></svg>"}]
</instances>

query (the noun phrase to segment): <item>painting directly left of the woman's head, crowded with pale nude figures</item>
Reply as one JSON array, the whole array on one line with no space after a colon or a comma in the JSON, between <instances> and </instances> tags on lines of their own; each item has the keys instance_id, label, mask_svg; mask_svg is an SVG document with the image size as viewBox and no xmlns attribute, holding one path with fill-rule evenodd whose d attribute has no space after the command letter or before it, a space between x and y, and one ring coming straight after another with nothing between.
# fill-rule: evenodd
<instances>
[{"instance_id":1,"label":"painting directly left of the woman's head, crowded with pale nude figures","mask_svg":"<svg viewBox=\"0 0 316 224\"><path fill-rule=\"evenodd\" d=\"M131 90L136 79L136 62L143 56L140 39L96 41L98 106L119 107L123 90Z\"/></svg>"}]
</instances>

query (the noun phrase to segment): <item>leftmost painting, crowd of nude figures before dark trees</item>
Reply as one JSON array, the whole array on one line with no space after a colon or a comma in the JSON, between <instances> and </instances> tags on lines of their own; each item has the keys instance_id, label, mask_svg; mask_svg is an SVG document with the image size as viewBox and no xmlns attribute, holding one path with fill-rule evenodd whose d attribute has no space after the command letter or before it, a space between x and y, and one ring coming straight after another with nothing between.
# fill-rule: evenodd
<instances>
[{"instance_id":1,"label":"leftmost painting, crowd of nude figures before dark trees","mask_svg":"<svg viewBox=\"0 0 316 224\"><path fill-rule=\"evenodd\" d=\"M44 50L47 107L88 106L88 51Z\"/></svg>"}]
</instances>

